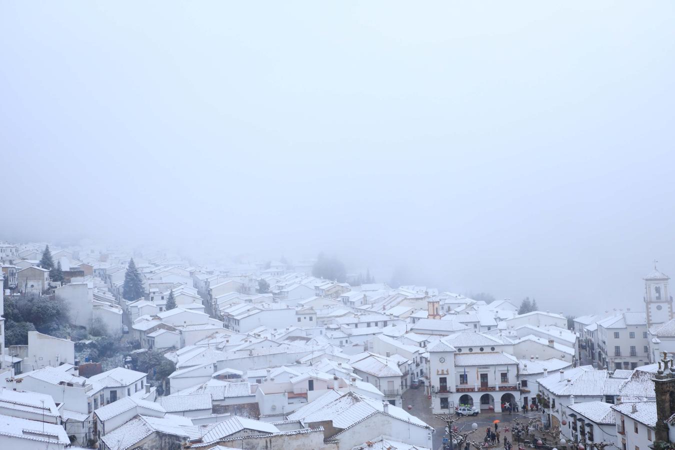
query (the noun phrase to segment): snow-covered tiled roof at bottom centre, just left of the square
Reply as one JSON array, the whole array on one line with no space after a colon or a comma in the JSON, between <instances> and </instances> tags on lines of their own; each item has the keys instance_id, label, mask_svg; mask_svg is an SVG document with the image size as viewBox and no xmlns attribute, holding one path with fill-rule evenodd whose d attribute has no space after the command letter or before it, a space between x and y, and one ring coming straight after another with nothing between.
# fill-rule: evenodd
<instances>
[{"instance_id":1,"label":"snow-covered tiled roof at bottom centre, just left of the square","mask_svg":"<svg viewBox=\"0 0 675 450\"><path fill-rule=\"evenodd\" d=\"M386 412L385 407L387 408ZM306 424L331 420L335 428L346 430L378 413L431 429L425 422L411 416L400 407L385 406L382 401L364 397L354 392L341 394L337 391L329 391L290 414L288 420L302 420Z\"/></svg>"}]
</instances>

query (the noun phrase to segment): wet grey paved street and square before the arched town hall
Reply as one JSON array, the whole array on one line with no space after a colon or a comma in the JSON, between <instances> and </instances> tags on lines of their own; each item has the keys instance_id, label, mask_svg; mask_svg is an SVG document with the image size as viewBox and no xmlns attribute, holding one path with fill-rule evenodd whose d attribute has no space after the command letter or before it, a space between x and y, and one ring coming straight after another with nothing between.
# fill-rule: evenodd
<instances>
[{"instance_id":1,"label":"wet grey paved street and square before the arched town hall","mask_svg":"<svg viewBox=\"0 0 675 450\"><path fill-rule=\"evenodd\" d=\"M427 398L425 389L408 389L402 395L403 397L403 407L406 411L410 412L413 416L420 418L427 422L427 424L433 426L435 432L433 433L433 449L432 450L442 450L443 449L443 436L445 435L445 422L436 418L431 414L431 400ZM408 405L412 406L412 409L408 410ZM531 412L526 414L508 414L506 412L481 412L477 416L462 417L456 422L456 426L460 430L466 431L470 430L472 424L478 424L478 430L475 432L475 438L472 441L483 441L485 437L485 428L488 426L493 427L493 421L499 420L499 430L504 430L504 428L511 428L510 423L516 419L520 420L521 423L526 423L528 420L539 417L538 412ZM512 441L511 433L506 434L509 441ZM502 439L504 437L504 432L502 431ZM497 445L493 447L495 449L502 449L502 445ZM517 446L514 445L514 449L517 449ZM460 450L460 449L455 449Z\"/></svg>"}]
</instances>

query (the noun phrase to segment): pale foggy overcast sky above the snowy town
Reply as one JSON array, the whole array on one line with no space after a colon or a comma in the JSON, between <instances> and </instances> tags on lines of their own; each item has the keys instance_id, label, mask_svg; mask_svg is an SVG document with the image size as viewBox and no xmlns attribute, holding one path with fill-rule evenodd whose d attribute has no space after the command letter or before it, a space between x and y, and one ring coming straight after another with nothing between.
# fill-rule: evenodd
<instances>
[{"instance_id":1,"label":"pale foggy overcast sky above the snowy town","mask_svg":"<svg viewBox=\"0 0 675 450\"><path fill-rule=\"evenodd\" d=\"M299 259L540 308L675 275L675 3L0 6L0 240Z\"/></svg>"}]
</instances>

